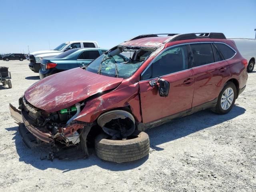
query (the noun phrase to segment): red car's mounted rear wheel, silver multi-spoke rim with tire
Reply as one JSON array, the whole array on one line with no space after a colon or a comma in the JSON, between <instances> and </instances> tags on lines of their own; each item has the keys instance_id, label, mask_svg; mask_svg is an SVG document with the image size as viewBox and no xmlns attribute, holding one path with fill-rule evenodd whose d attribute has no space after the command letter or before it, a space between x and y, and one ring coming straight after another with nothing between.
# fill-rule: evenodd
<instances>
[{"instance_id":1,"label":"red car's mounted rear wheel, silver multi-spoke rim with tire","mask_svg":"<svg viewBox=\"0 0 256 192\"><path fill-rule=\"evenodd\" d=\"M236 101L236 86L233 82L227 82L218 96L217 105L212 108L212 112L226 114L230 112Z\"/></svg>"}]
</instances>

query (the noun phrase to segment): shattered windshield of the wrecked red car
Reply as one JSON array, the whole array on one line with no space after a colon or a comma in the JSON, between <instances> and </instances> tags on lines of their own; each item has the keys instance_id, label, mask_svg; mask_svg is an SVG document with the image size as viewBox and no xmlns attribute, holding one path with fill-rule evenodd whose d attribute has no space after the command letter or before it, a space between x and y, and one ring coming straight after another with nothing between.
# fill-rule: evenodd
<instances>
[{"instance_id":1,"label":"shattered windshield of the wrecked red car","mask_svg":"<svg viewBox=\"0 0 256 192\"><path fill-rule=\"evenodd\" d=\"M118 47L96 58L86 70L105 76L128 78L154 51L155 49Z\"/></svg>"}]
</instances>

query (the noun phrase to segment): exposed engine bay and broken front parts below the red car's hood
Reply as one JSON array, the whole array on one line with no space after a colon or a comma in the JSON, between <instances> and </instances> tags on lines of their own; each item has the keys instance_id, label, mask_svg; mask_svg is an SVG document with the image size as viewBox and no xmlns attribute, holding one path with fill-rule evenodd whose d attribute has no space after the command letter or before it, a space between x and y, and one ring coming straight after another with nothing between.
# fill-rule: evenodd
<instances>
[{"instance_id":1,"label":"exposed engine bay and broken front parts below the red car's hood","mask_svg":"<svg viewBox=\"0 0 256 192\"><path fill-rule=\"evenodd\" d=\"M48 132L52 136L52 141L56 138L56 140L65 143L67 146L80 142L80 135L77 130L82 129L85 124L84 122L77 124L73 120L80 113L84 103L77 103L75 106L52 113L32 106L24 96L20 98L19 104L19 109L28 115L26 120L41 132ZM80 126L78 126L79 124Z\"/></svg>"}]
</instances>

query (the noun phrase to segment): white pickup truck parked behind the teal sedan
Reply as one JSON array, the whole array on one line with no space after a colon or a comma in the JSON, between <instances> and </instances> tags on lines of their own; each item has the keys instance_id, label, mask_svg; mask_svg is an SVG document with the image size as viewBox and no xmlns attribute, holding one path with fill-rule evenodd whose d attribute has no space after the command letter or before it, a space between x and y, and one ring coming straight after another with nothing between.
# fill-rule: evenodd
<instances>
[{"instance_id":1,"label":"white pickup truck parked behind the teal sedan","mask_svg":"<svg viewBox=\"0 0 256 192\"><path fill-rule=\"evenodd\" d=\"M41 60L44 58L52 58L62 52L75 48L100 48L96 41L68 41L60 44L54 50L36 51L29 55L29 68L38 73L41 68Z\"/></svg>"}]
</instances>

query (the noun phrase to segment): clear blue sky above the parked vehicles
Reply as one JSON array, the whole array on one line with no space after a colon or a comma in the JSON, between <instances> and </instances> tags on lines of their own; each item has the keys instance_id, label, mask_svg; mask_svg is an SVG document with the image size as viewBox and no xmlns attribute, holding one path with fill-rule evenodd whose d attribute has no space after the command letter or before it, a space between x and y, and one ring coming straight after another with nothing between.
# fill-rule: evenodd
<instances>
[{"instance_id":1,"label":"clear blue sky above the parked vehicles","mask_svg":"<svg viewBox=\"0 0 256 192\"><path fill-rule=\"evenodd\" d=\"M71 40L111 48L139 34L223 32L254 38L256 0L0 0L0 53Z\"/></svg>"}]
</instances>

